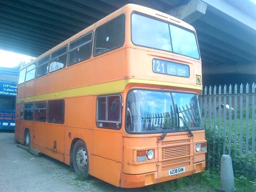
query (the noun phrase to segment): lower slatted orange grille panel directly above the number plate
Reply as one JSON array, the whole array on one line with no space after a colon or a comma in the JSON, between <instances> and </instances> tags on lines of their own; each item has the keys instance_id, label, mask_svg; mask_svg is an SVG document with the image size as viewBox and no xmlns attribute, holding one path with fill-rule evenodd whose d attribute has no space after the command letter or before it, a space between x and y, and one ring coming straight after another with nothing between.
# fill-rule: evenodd
<instances>
[{"instance_id":1,"label":"lower slatted orange grille panel directly above the number plate","mask_svg":"<svg viewBox=\"0 0 256 192\"><path fill-rule=\"evenodd\" d=\"M183 167L190 165L190 157L185 157L177 160L166 160L162 162L162 171L175 169L177 167Z\"/></svg>"}]
</instances>

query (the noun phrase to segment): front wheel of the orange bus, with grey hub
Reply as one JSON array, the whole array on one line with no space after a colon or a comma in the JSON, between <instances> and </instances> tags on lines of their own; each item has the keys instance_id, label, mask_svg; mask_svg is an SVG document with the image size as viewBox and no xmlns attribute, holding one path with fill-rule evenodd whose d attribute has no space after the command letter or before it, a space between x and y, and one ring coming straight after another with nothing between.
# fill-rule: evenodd
<instances>
[{"instance_id":1,"label":"front wheel of the orange bus, with grey hub","mask_svg":"<svg viewBox=\"0 0 256 192\"><path fill-rule=\"evenodd\" d=\"M85 143L78 140L72 152L73 167L77 175L88 177L89 175L89 158Z\"/></svg>"}]
</instances>

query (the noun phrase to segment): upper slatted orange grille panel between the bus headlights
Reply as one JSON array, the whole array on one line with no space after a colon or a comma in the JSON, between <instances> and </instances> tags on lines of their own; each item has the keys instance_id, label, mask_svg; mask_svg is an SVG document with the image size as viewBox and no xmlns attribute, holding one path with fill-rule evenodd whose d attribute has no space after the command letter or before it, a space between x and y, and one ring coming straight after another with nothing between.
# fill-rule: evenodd
<instances>
[{"instance_id":1,"label":"upper slatted orange grille panel between the bus headlights","mask_svg":"<svg viewBox=\"0 0 256 192\"><path fill-rule=\"evenodd\" d=\"M190 144L162 147L162 160L190 154Z\"/></svg>"}]
</instances>

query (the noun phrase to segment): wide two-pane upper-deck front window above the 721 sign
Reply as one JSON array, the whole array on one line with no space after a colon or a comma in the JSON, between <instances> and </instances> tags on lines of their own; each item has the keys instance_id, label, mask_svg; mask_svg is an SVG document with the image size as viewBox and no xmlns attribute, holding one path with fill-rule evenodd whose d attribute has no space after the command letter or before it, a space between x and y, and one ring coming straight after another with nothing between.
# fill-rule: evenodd
<instances>
[{"instance_id":1,"label":"wide two-pane upper-deck front window above the 721 sign","mask_svg":"<svg viewBox=\"0 0 256 192\"><path fill-rule=\"evenodd\" d=\"M200 58L193 32L143 15L131 15L131 39L143 47Z\"/></svg>"}]
</instances>

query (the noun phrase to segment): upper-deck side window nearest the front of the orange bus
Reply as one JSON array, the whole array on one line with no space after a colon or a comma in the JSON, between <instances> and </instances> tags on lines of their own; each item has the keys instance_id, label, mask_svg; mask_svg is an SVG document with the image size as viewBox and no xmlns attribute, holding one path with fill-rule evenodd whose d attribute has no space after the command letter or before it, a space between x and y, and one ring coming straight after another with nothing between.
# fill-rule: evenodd
<instances>
[{"instance_id":1,"label":"upper-deck side window nearest the front of the orange bus","mask_svg":"<svg viewBox=\"0 0 256 192\"><path fill-rule=\"evenodd\" d=\"M125 15L99 26L95 31L93 55L121 47L125 41Z\"/></svg>"}]
</instances>

